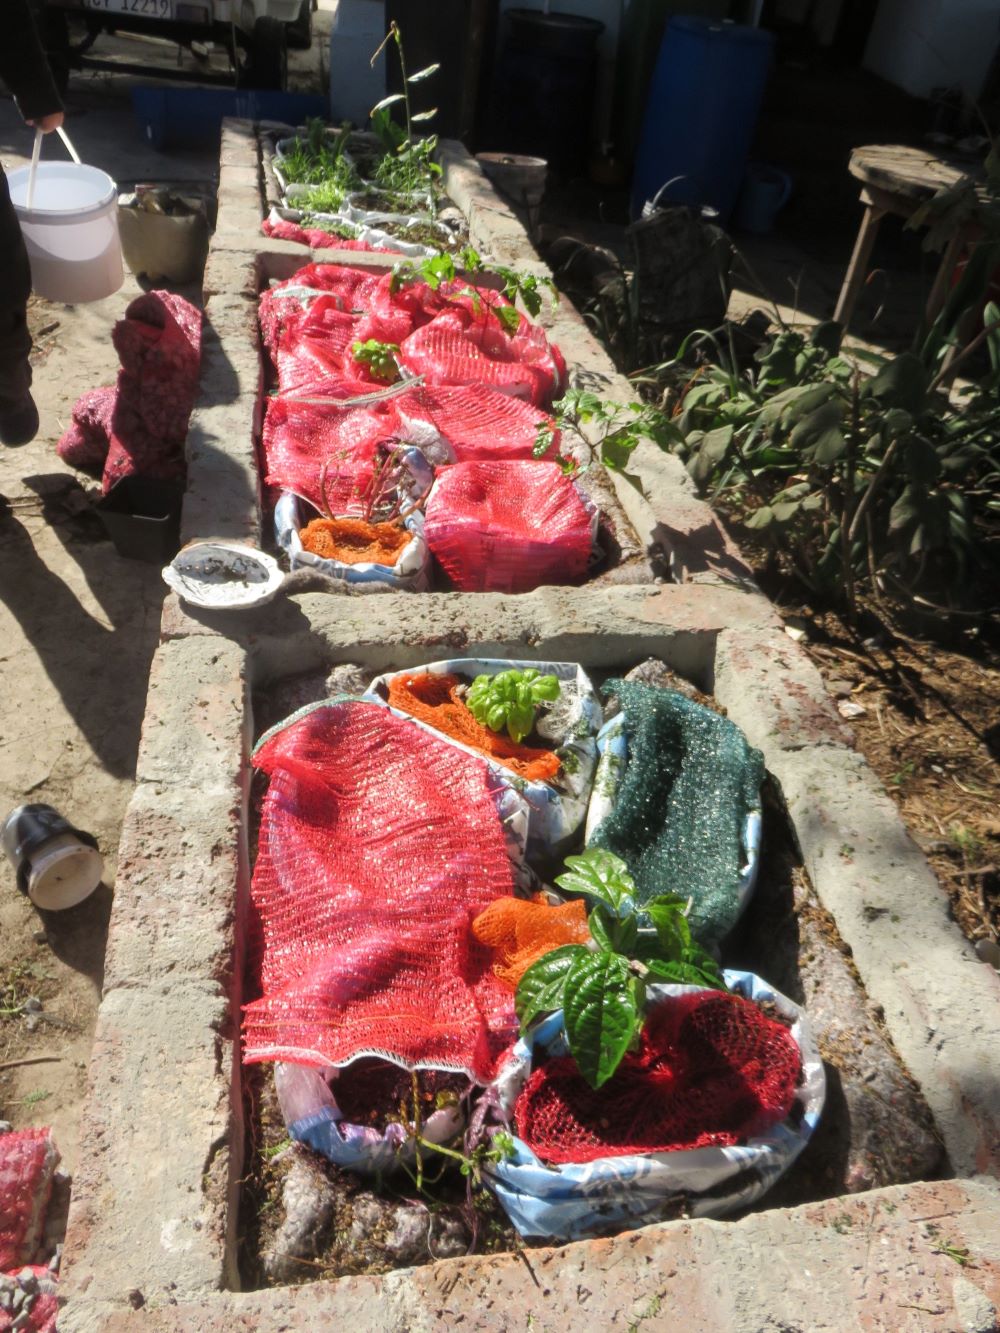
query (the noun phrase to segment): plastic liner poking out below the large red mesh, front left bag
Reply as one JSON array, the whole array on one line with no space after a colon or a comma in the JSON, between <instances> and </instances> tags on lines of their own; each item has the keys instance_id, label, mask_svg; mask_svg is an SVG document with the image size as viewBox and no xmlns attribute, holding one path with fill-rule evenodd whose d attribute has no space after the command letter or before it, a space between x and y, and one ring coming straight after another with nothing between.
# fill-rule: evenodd
<instances>
[{"instance_id":1,"label":"plastic liner poking out below the large red mesh, front left bag","mask_svg":"<svg viewBox=\"0 0 1000 1333\"><path fill-rule=\"evenodd\" d=\"M375 1129L344 1120L333 1096L339 1073L335 1068L275 1065L277 1101L289 1136L345 1170L375 1174L392 1170L400 1162L412 1162L413 1138L407 1125L392 1122L385 1129ZM441 1106L420 1126L421 1136L432 1144L447 1144L464 1129L461 1105Z\"/></svg>"}]
</instances>

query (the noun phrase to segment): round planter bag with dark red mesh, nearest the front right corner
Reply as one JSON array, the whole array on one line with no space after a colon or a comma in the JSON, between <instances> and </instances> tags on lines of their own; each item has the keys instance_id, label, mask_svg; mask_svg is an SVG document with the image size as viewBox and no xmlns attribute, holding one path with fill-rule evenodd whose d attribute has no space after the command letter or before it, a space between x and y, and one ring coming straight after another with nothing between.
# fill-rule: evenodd
<instances>
[{"instance_id":1,"label":"round planter bag with dark red mesh, nearest the front right corner","mask_svg":"<svg viewBox=\"0 0 1000 1333\"><path fill-rule=\"evenodd\" d=\"M649 986L640 1049L597 1092L568 1056L561 1013L517 1042L495 1085L515 1152L484 1174L521 1236L568 1241L679 1213L723 1217L792 1165L823 1109L815 1038L767 982L724 976L735 994Z\"/></svg>"}]
</instances>

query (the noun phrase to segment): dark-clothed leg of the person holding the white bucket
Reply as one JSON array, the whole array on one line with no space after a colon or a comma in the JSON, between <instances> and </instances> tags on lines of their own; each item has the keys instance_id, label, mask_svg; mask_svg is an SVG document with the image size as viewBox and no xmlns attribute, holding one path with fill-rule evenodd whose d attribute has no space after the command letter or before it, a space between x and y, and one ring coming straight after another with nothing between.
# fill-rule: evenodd
<instances>
[{"instance_id":1,"label":"dark-clothed leg of the person holding the white bucket","mask_svg":"<svg viewBox=\"0 0 1000 1333\"><path fill-rule=\"evenodd\" d=\"M28 252L0 171L0 444L27 444L39 429L28 361L29 295Z\"/></svg>"}]
</instances>

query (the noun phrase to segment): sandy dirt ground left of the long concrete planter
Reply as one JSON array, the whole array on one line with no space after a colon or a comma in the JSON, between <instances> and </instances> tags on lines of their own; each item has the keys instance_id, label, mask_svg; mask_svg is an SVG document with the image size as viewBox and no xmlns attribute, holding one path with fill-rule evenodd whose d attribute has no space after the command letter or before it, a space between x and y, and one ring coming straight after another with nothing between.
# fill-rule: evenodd
<instances>
[{"instance_id":1,"label":"sandy dirt ground left of the long concrete planter","mask_svg":"<svg viewBox=\"0 0 1000 1333\"><path fill-rule=\"evenodd\" d=\"M292 55L300 87L323 77L329 13L315 19L312 51ZM101 45L101 55L129 53L128 39ZM131 59L176 67L177 53L144 41ZM83 160L123 189L140 180L213 183L217 149L157 152L143 140L132 81L72 75L67 129ZM13 104L0 100L4 167L23 165L31 143ZM47 141L45 156L60 155ZM92 305L32 301L41 429L21 449L0 449L0 820L24 802L47 802L93 833L104 854L101 888L68 912L36 910L0 862L0 1120L51 1125L69 1170L164 585L159 568L116 553L92 512L92 483L55 445L77 395L113 383L111 329L140 291L127 273L115 296Z\"/></svg>"}]
</instances>

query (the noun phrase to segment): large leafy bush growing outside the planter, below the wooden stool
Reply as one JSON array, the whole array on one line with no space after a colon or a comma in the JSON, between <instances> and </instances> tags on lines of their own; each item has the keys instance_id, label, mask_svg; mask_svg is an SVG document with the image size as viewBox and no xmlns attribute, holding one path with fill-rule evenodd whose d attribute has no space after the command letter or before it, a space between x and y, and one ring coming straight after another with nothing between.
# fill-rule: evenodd
<instances>
[{"instance_id":1,"label":"large leafy bush growing outside the planter, below the wooden stool","mask_svg":"<svg viewBox=\"0 0 1000 1333\"><path fill-rule=\"evenodd\" d=\"M973 495L1000 471L1000 396L988 384L952 405L941 372L913 352L865 373L840 355L839 333L784 331L740 369L699 331L715 363L659 369L679 385L673 448L697 485L855 615L859 581L876 597L887 585L909 596L928 569L964 576ZM996 355L1000 365L1000 344ZM995 493L979 501L989 511Z\"/></svg>"}]
</instances>

